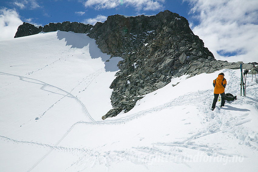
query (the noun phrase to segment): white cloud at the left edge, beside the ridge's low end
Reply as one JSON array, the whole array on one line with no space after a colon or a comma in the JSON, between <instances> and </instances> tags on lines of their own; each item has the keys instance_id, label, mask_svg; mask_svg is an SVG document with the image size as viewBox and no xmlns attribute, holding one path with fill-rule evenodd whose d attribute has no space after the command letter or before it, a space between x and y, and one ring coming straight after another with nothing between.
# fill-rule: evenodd
<instances>
[{"instance_id":1,"label":"white cloud at the left edge, beside the ridge's low end","mask_svg":"<svg viewBox=\"0 0 258 172\"><path fill-rule=\"evenodd\" d=\"M14 38L15 33L19 25L22 24L22 20L19 18L19 14L12 9L0 10L0 40Z\"/></svg>"}]
</instances>

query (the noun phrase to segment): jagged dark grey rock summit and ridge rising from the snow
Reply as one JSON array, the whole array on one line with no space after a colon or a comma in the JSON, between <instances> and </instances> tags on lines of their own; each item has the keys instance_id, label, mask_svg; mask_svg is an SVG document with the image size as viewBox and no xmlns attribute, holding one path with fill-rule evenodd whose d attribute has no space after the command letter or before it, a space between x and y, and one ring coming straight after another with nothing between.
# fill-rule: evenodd
<instances>
[{"instance_id":1,"label":"jagged dark grey rock summit and ridge rising from the snow","mask_svg":"<svg viewBox=\"0 0 258 172\"><path fill-rule=\"evenodd\" d=\"M15 37L57 30L88 33L103 53L124 59L118 63L121 70L110 85L114 90L110 98L113 109L102 119L128 112L142 95L164 87L171 77L238 69L243 64L216 60L194 35L188 20L168 10L153 16L111 15L94 26L78 22L49 23L44 27L23 23Z\"/></svg>"}]
</instances>

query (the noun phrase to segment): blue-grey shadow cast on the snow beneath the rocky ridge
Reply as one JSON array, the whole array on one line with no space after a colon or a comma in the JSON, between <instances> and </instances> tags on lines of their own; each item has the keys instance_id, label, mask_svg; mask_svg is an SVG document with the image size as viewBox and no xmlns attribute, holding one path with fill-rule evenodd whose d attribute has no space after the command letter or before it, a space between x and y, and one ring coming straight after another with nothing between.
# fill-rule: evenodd
<instances>
[{"instance_id":1,"label":"blue-grey shadow cast on the snow beneath the rocky ridge","mask_svg":"<svg viewBox=\"0 0 258 172\"><path fill-rule=\"evenodd\" d=\"M101 60L105 63L105 70L114 72L118 71L118 61L123 60L120 57L113 57L110 59L110 55L106 53L102 53L101 50L98 48L94 39L91 39L84 33L74 33L74 32L64 32L64 31L57 31L56 33L57 39L62 40L65 39L66 46L71 46L70 48L84 48L85 46L89 46L89 53L90 57L101 58ZM109 60L107 62L107 60Z\"/></svg>"}]
</instances>

